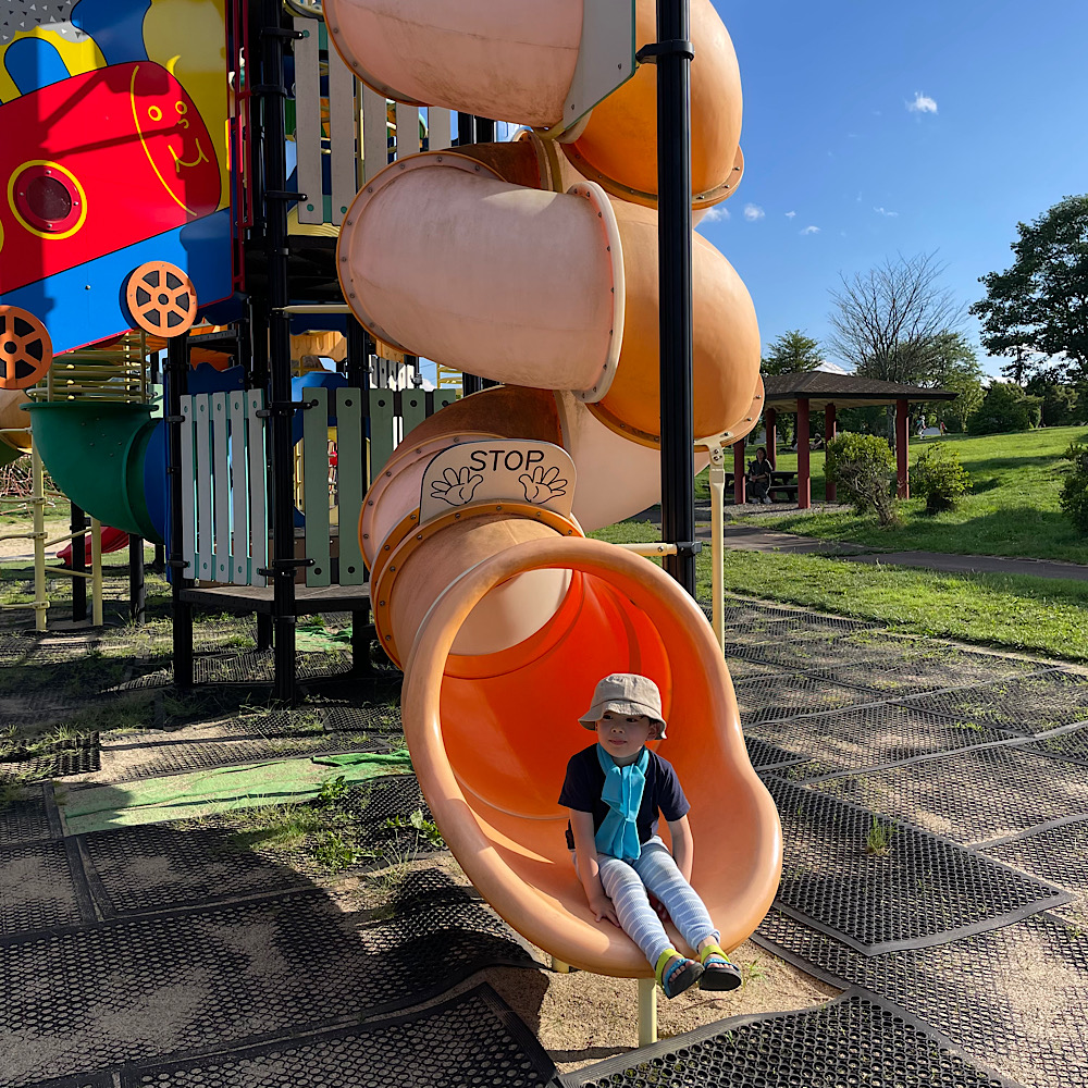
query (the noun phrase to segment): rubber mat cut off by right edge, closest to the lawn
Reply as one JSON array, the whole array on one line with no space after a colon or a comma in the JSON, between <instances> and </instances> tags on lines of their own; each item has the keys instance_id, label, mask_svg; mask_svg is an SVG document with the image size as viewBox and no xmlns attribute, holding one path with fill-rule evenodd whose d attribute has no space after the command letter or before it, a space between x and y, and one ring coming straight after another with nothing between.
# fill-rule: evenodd
<instances>
[{"instance_id":1,"label":"rubber mat cut off by right edge, closest to the lawn","mask_svg":"<svg viewBox=\"0 0 1088 1088\"><path fill-rule=\"evenodd\" d=\"M908 702L960 721L1043 733L1088 721L1088 677L1054 669L986 687L919 695Z\"/></svg>"}]
</instances>

